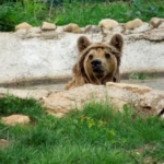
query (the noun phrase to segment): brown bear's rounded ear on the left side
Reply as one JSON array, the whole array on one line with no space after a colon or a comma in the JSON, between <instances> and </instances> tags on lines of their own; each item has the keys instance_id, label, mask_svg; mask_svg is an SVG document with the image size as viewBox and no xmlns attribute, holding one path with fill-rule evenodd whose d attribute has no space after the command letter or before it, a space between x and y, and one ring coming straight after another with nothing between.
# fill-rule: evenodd
<instances>
[{"instance_id":1,"label":"brown bear's rounded ear on the left side","mask_svg":"<svg viewBox=\"0 0 164 164\"><path fill-rule=\"evenodd\" d=\"M84 50L87 46L91 45L89 38L86 36L80 36L79 39L78 39L78 49L79 49L79 52L81 52L82 50Z\"/></svg>"}]
</instances>

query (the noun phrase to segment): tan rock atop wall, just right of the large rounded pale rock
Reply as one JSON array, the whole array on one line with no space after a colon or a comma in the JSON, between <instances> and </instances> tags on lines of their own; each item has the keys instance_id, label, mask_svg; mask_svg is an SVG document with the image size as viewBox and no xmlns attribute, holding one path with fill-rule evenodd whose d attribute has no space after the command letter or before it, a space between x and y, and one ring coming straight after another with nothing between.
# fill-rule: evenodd
<instances>
[{"instance_id":1,"label":"tan rock atop wall, just right of the large rounded pale rock","mask_svg":"<svg viewBox=\"0 0 164 164\"><path fill-rule=\"evenodd\" d=\"M129 21L125 24L126 30L133 30L136 27L139 27L143 25L143 22L140 19L136 19L133 21Z\"/></svg>"}]
</instances>

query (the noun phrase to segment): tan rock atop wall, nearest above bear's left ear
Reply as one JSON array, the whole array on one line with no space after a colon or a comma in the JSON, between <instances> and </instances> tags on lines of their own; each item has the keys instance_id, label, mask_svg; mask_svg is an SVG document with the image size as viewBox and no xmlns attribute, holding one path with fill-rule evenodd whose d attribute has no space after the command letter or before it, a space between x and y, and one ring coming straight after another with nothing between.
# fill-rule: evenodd
<instances>
[{"instance_id":1,"label":"tan rock atop wall, nearest above bear's left ear","mask_svg":"<svg viewBox=\"0 0 164 164\"><path fill-rule=\"evenodd\" d=\"M69 33L81 33L81 28L79 27L78 24L75 23L70 23L63 26L63 31L65 32L69 32Z\"/></svg>"}]
</instances>

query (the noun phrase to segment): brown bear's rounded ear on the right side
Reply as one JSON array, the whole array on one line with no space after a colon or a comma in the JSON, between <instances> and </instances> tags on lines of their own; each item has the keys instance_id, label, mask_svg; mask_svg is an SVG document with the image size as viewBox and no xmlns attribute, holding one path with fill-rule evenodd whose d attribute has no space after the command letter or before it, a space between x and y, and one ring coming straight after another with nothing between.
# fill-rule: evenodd
<instances>
[{"instance_id":1,"label":"brown bear's rounded ear on the right side","mask_svg":"<svg viewBox=\"0 0 164 164\"><path fill-rule=\"evenodd\" d=\"M119 51L122 51L124 38L120 34L113 35L109 44L117 48Z\"/></svg>"}]
</instances>

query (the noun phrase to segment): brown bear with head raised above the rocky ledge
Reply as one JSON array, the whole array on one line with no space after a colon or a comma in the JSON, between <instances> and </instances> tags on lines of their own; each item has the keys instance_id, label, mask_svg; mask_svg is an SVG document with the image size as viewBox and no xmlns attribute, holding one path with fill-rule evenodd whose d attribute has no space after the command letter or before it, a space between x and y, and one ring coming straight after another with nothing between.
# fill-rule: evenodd
<instances>
[{"instance_id":1,"label":"brown bear with head raised above the rocky ledge","mask_svg":"<svg viewBox=\"0 0 164 164\"><path fill-rule=\"evenodd\" d=\"M119 82L119 66L122 54L124 39L115 34L108 43L91 43L86 36L78 39L79 56L73 66L73 79L66 85L66 90L92 84Z\"/></svg>"}]
</instances>

